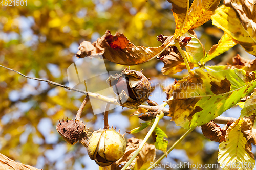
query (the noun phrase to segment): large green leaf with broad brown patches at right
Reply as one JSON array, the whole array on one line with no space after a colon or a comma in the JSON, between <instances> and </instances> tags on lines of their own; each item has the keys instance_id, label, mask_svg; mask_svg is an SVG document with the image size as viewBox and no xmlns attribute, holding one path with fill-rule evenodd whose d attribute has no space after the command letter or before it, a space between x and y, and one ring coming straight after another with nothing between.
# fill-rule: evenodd
<instances>
[{"instance_id":1,"label":"large green leaf with broad brown patches at right","mask_svg":"<svg viewBox=\"0 0 256 170\"><path fill-rule=\"evenodd\" d=\"M205 71L202 68L172 86L169 116L185 129L201 126L236 105L256 87L255 71Z\"/></svg>"}]
</instances>

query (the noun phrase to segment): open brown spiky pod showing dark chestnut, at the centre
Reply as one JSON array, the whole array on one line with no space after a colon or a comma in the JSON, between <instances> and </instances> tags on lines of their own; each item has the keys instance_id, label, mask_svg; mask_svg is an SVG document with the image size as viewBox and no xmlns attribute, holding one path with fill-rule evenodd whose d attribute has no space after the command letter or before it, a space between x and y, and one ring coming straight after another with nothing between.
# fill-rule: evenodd
<instances>
[{"instance_id":1,"label":"open brown spiky pod showing dark chestnut, at the centre","mask_svg":"<svg viewBox=\"0 0 256 170\"><path fill-rule=\"evenodd\" d=\"M113 87L121 106L137 107L148 100L150 95L148 80L140 71L124 69L121 74L110 76L106 82Z\"/></svg>"}]
</instances>

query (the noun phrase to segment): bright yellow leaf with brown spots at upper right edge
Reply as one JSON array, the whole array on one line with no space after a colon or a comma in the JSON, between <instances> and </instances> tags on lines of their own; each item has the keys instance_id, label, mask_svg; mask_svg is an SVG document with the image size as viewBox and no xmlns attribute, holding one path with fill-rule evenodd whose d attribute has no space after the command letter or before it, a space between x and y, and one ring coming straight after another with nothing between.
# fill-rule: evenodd
<instances>
[{"instance_id":1,"label":"bright yellow leaf with brown spots at upper right edge","mask_svg":"<svg viewBox=\"0 0 256 170\"><path fill-rule=\"evenodd\" d=\"M250 33L249 28L245 28L237 16L236 11L228 6L222 5L212 15L212 24L221 28L230 37L238 41L238 43L250 54L256 54L256 37L254 33ZM252 29L256 27L252 26Z\"/></svg>"}]
</instances>

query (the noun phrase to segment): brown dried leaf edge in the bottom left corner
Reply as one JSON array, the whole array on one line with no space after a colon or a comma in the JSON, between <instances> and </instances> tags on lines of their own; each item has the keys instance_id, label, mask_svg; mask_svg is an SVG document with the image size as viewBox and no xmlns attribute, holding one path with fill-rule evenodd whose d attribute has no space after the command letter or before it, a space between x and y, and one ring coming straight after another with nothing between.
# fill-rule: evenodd
<instances>
[{"instance_id":1,"label":"brown dried leaf edge in the bottom left corner","mask_svg":"<svg viewBox=\"0 0 256 170\"><path fill-rule=\"evenodd\" d=\"M18 169L24 169L24 170L39 170L35 167L24 165L19 162L15 162L14 160L8 158L7 156L0 154L0 169L2 170L18 170Z\"/></svg>"}]
</instances>

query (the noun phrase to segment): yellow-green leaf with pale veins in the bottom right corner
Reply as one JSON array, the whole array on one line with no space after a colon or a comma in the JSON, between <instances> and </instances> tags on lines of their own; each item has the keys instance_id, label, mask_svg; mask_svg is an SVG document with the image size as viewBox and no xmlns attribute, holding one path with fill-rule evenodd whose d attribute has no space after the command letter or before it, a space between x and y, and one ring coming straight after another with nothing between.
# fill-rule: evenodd
<instances>
[{"instance_id":1,"label":"yellow-green leaf with pale veins in the bottom right corner","mask_svg":"<svg viewBox=\"0 0 256 170\"><path fill-rule=\"evenodd\" d=\"M232 123L227 139L220 143L218 162L223 169L253 169L255 160L247 153L246 139L241 132L243 119ZM251 152L251 151L249 151Z\"/></svg>"}]
</instances>

